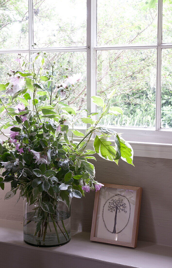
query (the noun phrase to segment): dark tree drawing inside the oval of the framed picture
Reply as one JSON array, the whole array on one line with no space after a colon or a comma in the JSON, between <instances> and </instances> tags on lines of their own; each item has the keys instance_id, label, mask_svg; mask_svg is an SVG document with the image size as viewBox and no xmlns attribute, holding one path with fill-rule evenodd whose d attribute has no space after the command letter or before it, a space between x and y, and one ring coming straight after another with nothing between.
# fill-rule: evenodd
<instances>
[{"instance_id":1,"label":"dark tree drawing inside the oval of the framed picture","mask_svg":"<svg viewBox=\"0 0 172 268\"><path fill-rule=\"evenodd\" d=\"M123 199L111 199L108 205L108 211L110 212L115 212L115 220L114 220L114 230L112 233L116 233L116 218L117 218L117 213L121 213L122 211L124 213L127 213L126 211L126 203L123 203Z\"/></svg>"}]
</instances>

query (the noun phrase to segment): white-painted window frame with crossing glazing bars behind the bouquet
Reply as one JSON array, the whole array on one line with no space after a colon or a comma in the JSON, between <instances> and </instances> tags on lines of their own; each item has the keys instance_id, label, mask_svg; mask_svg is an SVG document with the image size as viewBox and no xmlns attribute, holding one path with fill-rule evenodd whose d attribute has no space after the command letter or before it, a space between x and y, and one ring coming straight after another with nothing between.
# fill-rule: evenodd
<instances>
[{"instance_id":1,"label":"white-painted window frame with crossing glazing bars behind the bouquet","mask_svg":"<svg viewBox=\"0 0 172 268\"><path fill-rule=\"evenodd\" d=\"M55 47L41 48L45 52L87 52L87 109L89 112L96 111L96 105L91 102L90 97L96 95L96 53L98 50L117 49L157 49L157 89L156 89L156 124L155 128L135 127L111 127L119 133L123 133L124 139L128 140L134 147L138 156L172 158L172 129L161 128L161 51L163 48L172 48L172 43L162 43L162 1L158 0L158 27L157 44L148 45L114 45L97 46L97 0L87 0L87 46L83 47ZM29 44L28 49L6 49L3 53L28 53L29 61L33 53L39 51L34 49L33 38L33 0L28 0L29 7ZM88 125L89 126L89 125ZM81 131L84 128L77 127ZM77 138L76 138L77 140Z\"/></svg>"}]
</instances>

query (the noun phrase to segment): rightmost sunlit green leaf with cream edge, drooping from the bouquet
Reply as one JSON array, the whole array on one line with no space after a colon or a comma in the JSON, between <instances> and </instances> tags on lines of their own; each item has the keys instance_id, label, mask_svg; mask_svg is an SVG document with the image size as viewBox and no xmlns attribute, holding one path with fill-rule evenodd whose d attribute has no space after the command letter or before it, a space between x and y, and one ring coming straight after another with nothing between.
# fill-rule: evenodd
<instances>
[{"instance_id":1,"label":"rightmost sunlit green leaf with cream edge, drooping from the bouquet","mask_svg":"<svg viewBox=\"0 0 172 268\"><path fill-rule=\"evenodd\" d=\"M119 143L120 143L121 159L127 162L128 164L133 165L132 163L133 150L132 150L131 145L125 140L123 140L122 137L119 137Z\"/></svg>"}]
</instances>

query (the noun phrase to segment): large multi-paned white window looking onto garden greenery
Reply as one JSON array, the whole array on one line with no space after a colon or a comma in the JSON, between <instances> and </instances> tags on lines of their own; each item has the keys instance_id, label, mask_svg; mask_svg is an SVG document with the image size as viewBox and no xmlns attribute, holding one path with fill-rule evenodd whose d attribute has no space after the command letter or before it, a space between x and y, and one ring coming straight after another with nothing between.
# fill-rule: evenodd
<instances>
[{"instance_id":1,"label":"large multi-paned white window looking onto garden greenery","mask_svg":"<svg viewBox=\"0 0 172 268\"><path fill-rule=\"evenodd\" d=\"M18 53L32 60L37 43L71 74L82 73L69 103L95 112L90 97L117 88L111 104L123 117L100 125L130 141L172 143L171 13L171 0L2 0L1 80Z\"/></svg>"}]
</instances>

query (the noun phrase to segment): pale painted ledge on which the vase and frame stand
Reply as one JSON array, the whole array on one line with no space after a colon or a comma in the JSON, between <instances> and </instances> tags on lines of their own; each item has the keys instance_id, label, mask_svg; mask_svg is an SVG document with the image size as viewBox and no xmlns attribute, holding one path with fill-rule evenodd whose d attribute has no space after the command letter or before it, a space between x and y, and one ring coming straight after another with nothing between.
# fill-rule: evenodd
<instances>
[{"instance_id":1,"label":"pale painted ledge on which the vase and frame stand","mask_svg":"<svg viewBox=\"0 0 172 268\"><path fill-rule=\"evenodd\" d=\"M22 222L0 220L2 267L171 267L171 247L138 241L137 248L127 248L91 242L90 234L81 232L61 247L37 248L24 243L22 228Z\"/></svg>"}]
</instances>

